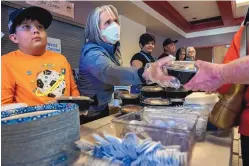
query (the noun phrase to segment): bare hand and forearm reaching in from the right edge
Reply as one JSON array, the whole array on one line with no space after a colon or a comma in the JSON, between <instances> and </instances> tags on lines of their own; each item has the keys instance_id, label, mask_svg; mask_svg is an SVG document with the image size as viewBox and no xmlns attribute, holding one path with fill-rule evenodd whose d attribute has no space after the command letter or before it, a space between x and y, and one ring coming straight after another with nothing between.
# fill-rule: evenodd
<instances>
[{"instance_id":1,"label":"bare hand and forearm reaching in from the right edge","mask_svg":"<svg viewBox=\"0 0 249 166\"><path fill-rule=\"evenodd\" d=\"M185 89L214 91L225 83L249 83L249 56L227 64L197 61L198 72L184 85Z\"/></svg>"}]
</instances>

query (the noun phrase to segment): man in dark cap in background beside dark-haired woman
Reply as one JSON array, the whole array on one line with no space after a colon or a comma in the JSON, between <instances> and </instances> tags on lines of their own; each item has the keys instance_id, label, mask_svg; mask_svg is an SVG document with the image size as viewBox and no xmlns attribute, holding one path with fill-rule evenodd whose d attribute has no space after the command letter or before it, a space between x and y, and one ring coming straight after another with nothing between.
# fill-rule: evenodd
<instances>
[{"instance_id":1,"label":"man in dark cap in background beside dark-haired woman","mask_svg":"<svg viewBox=\"0 0 249 166\"><path fill-rule=\"evenodd\" d=\"M176 53L176 45L175 44L177 42L178 42L178 40L172 40L171 38L164 40L164 42L163 42L164 53L162 55L160 55L158 57L158 59L167 57L169 55L175 56L175 53Z\"/></svg>"}]
</instances>

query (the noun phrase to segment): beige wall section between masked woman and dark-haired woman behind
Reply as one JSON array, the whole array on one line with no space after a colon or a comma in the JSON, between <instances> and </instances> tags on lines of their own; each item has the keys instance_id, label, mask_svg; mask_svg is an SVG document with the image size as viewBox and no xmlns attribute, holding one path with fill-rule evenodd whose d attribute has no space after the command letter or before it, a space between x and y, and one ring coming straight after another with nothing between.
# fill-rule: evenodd
<instances>
[{"instance_id":1,"label":"beige wall section between masked woman and dark-haired woman behind","mask_svg":"<svg viewBox=\"0 0 249 166\"><path fill-rule=\"evenodd\" d=\"M134 54L139 52L139 37L146 32L146 27L138 24L122 15L119 15L121 28L120 51L123 65L130 66L130 60Z\"/></svg>"}]
</instances>

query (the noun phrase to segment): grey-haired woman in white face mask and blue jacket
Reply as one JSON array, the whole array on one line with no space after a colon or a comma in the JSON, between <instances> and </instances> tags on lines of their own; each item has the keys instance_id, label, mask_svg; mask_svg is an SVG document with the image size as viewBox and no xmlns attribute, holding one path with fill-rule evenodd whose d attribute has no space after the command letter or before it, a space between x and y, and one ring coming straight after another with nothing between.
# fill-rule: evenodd
<instances>
[{"instance_id":1,"label":"grey-haired woman in white face mask and blue jacket","mask_svg":"<svg viewBox=\"0 0 249 166\"><path fill-rule=\"evenodd\" d=\"M89 108L83 123L109 115L114 85L157 83L172 86L176 78L168 76L162 66L172 62L167 57L144 67L122 67L119 51L120 26L118 12L112 5L96 7L88 15L77 84L81 95L97 96L98 104ZM127 48L129 49L129 48Z\"/></svg>"}]
</instances>

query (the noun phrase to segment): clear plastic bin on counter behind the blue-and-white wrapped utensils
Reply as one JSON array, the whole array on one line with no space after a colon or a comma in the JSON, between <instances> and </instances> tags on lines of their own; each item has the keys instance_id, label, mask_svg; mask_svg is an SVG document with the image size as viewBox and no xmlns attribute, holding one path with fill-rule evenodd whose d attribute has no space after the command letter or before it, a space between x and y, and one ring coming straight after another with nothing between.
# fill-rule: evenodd
<instances>
[{"instance_id":1,"label":"clear plastic bin on counter behind the blue-and-white wrapped utensils","mask_svg":"<svg viewBox=\"0 0 249 166\"><path fill-rule=\"evenodd\" d=\"M122 138L127 133L135 133L141 139L151 138L165 146L180 145L181 152L186 152L191 159L195 144L195 129L198 115L151 114L144 116L144 111L129 113L114 119L116 136Z\"/></svg>"}]
</instances>

